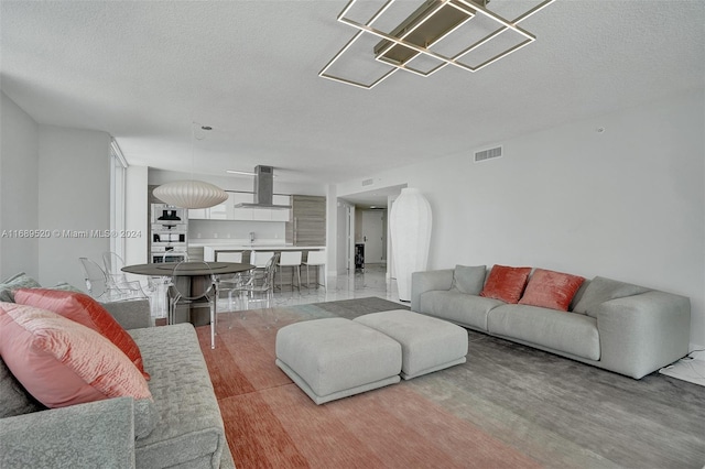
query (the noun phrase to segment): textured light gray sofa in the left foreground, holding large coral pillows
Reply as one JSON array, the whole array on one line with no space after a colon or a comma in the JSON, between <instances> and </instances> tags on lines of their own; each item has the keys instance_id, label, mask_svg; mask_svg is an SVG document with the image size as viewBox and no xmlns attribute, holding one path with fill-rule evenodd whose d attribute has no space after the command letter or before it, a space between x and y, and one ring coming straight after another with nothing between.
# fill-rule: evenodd
<instances>
[{"instance_id":1,"label":"textured light gray sofa in the left foreground, holding large coral pillows","mask_svg":"<svg viewBox=\"0 0 705 469\"><path fill-rule=\"evenodd\" d=\"M30 399L24 414L0 419L0 467L235 468L193 326L150 327L147 301L104 306L128 329L151 374L154 428L140 435L143 418L131 397L56 410ZM25 397L12 380L0 360L3 405Z\"/></svg>"}]
</instances>

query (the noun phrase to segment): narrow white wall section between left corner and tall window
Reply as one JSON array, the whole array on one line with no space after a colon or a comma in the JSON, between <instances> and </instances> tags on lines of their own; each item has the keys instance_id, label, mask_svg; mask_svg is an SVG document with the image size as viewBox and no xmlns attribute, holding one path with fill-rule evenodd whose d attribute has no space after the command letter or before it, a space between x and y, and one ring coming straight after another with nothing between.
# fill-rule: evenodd
<instances>
[{"instance_id":1,"label":"narrow white wall section between left corner and tall window","mask_svg":"<svg viewBox=\"0 0 705 469\"><path fill-rule=\"evenodd\" d=\"M106 132L40 127L40 228L110 229L110 135ZM42 285L68 282L85 287L78 258L101 262L109 238L52 236L39 243Z\"/></svg>"}]
</instances>

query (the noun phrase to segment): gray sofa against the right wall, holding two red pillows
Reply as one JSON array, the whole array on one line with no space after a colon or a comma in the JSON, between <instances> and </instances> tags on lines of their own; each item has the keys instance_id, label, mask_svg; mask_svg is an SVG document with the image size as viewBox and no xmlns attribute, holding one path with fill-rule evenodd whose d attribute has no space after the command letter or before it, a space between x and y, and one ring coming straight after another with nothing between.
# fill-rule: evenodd
<instances>
[{"instance_id":1,"label":"gray sofa against the right wall, holding two red pillows","mask_svg":"<svg viewBox=\"0 0 705 469\"><path fill-rule=\"evenodd\" d=\"M684 296L598 276L562 312L479 296L487 270L464 282L462 268L413 273L411 310L634 379L688 352Z\"/></svg>"}]
</instances>

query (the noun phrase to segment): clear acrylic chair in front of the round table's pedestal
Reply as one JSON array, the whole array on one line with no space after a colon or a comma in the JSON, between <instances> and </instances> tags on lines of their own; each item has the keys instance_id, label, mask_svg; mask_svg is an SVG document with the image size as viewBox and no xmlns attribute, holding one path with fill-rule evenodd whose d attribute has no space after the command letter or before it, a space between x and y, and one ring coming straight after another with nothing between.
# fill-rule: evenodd
<instances>
[{"instance_id":1,"label":"clear acrylic chair in front of the round table's pedestal","mask_svg":"<svg viewBox=\"0 0 705 469\"><path fill-rule=\"evenodd\" d=\"M206 272L204 275L194 275L194 269ZM194 283L202 281L202 285ZM176 321L176 308L185 305L188 308L188 320L191 321L191 309L194 307L208 307L210 312L210 348L216 348L216 303L217 303L217 279L207 262L180 262L172 272L172 282L169 285L169 324ZM196 286L196 288L194 288ZM202 291L192 294L193 290Z\"/></svg>"}]
</instances>

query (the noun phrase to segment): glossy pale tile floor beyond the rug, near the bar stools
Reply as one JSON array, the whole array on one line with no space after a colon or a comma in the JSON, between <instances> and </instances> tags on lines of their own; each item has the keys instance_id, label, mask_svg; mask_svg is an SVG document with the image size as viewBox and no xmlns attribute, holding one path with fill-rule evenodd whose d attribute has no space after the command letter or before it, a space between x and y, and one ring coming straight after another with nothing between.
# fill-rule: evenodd
<instances>
[{"instance_id":1,"label":"glossy pale tile floor beyond the rug, near the bar stools","mask_svg":"<svg viewBox=\"0 0 705 469\"><path fill-rule=\"evenodd\" d=\"M357 270L347 275L328 277L327 291L323 286L318 286L318 288L302 287L301 292L297 288L292 291L289 285L284 285L281 290L278 287L274 290L274 306L293 306L367 296L377 296L409 305L399 301L397 281L387 280L387 266L384 264L367 264L364 271ZM250 309L259 307L264 307L264 303L250 302L249 304ZM237 305L234 309L237 309ZM223 294L218 302L218 312L226 310L229 310L228 298L226 294Z\"/></svg>"}]
</instances>

